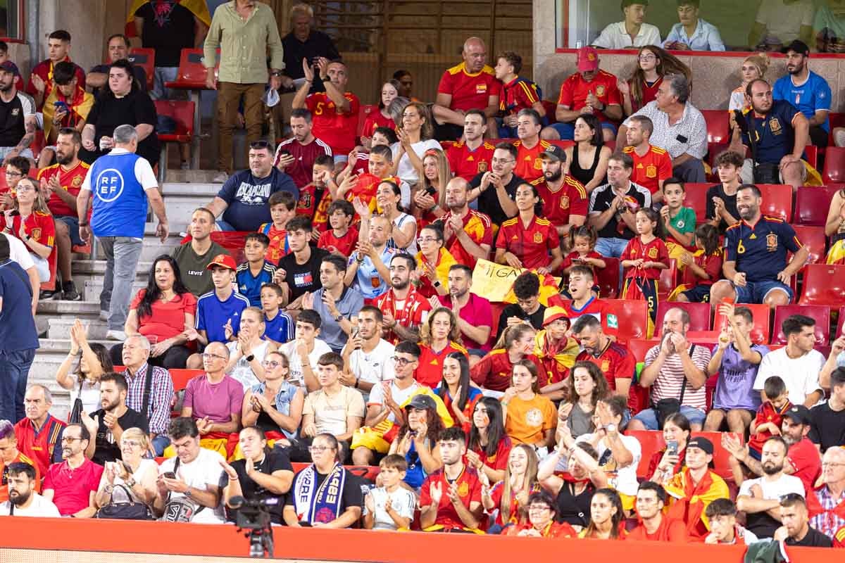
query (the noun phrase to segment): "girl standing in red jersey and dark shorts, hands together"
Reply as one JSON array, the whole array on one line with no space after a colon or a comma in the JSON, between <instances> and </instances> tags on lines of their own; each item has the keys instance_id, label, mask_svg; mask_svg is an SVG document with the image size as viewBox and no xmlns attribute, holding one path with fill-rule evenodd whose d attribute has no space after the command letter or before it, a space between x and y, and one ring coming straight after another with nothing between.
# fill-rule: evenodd
<instances>
[{"instance_id":1,"label":"girl standing in red jersey and dark shorts, hands together","mask_svg":"<svg viewBox=\"0 0 845 563\"><path fill-rule=\"evenodd\" d=\"M636 212L635 236L622 252L622 267L625 269L625 284L622 299L645 300L648 303L649 330L654 333L657 320L657 279L660 270L669 267L669 253L662 241L663 231L660 217L651 208Z\"/></svg>"}]
</instances>

